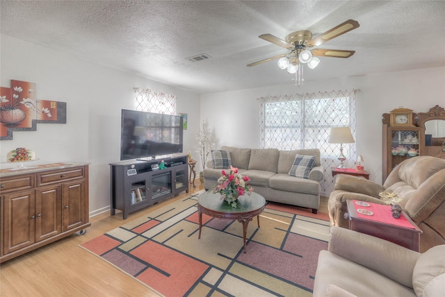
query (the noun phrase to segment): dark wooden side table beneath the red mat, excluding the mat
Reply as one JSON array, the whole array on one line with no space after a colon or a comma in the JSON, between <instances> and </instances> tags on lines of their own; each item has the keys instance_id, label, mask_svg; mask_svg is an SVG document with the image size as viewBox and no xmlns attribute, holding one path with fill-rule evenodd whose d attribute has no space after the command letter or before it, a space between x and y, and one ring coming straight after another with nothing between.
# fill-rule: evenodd
<instances>
[{"instance_id":1,"label":"dark wooden side table beneath the red mat, excluding the mat","mask_svg":"<svg viewBox=\"0 0 445 297\"><path fill-rule=\"evenodd\" d=\"M359 203L363 203L359 201ZM369 205L378 205L368 202ZM364 219L357 216L355 205L353 200L346 201L348 205L348 217L349 228L357 232L361 232L367 235L372 235L387 241L391 241L399 246L410 248L412 251L420 251L420 235L422 230L416 226L410 217L405 212L402 215L407 219L411 228L405 226L399 226L398 224L384 223L381 221L373 221L371 219ZM391 213L391 206L383 205L388 208L388 212ZM362 207L366 210L367 207ZM372 208L371 208L372 209ZM346 217L346 216L345 216ZM396 219L397 220L397 219Z\"/></svg>"}]
</instances>

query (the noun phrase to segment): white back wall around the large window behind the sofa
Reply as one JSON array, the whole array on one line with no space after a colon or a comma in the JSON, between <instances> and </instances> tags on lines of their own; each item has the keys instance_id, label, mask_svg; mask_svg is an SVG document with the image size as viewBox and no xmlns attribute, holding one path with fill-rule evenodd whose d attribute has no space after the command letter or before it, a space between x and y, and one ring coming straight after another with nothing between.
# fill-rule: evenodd
<instances>
[{"instance_id":1,"label":"white back wall around the large window behind the sofa","mask_svg":"<svg viewBox=\"0 0 445 297\"><path fill-rule=\"evenodd\" d=\"M360 90L355 94L357 155L364 156L370 179L382 183L382 114L398 106L414 112L427 112L434 105L445 107L445 68L308 81L302 87L290 83L205 94L201 96L201 117L209 121L209 128L216 136L216 148L222 145L259 148L259 97L346 89ZM327 191L325 194L329 194Z\"/></svg>"}]
</instances>

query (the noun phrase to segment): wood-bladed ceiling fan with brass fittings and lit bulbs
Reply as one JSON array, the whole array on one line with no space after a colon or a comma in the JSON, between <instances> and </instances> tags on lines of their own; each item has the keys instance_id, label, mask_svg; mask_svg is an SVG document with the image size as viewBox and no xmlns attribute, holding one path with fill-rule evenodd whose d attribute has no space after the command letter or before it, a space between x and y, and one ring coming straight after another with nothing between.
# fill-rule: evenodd
<instances>
[{"instance_id":1,"label":"wood-bladed ceiling fan with brass fittings and lit bulbs","mask_svg":"<svg viewBox=\"0 0 445 297\"><path fill-rule=\"evenodd\" d=\"M354 30L359 26L360 25L357 21L348 19L346 22L335 26L334 28L326 31L321 35L318 35L315 38L312 38L311 31L307 30L295 31L287 35L286 40L281 40L280 38L275 37L271 34L259 35L261 39L264 39L273 44L277 44L278 46L282 46L284 47L284 49L289 49L290 52L282 53L281 55L250 63L248 67L280 58L280 60L278 61L278 66L281 69L287 69L287 71L291 74L295 74L298 69L299 62L307 63L308 67L311 69L314 69L316 65L318 65L318 62L320 62L320 60L316 57L313 58L312 56L349 58L350 56L353 56L355 51L339 49L311 49L309 51L307 48L312 48L314 46L323 44L324 42L332 40L335 37L339 37L340 35Z\"/></svg>"}]
</instances>

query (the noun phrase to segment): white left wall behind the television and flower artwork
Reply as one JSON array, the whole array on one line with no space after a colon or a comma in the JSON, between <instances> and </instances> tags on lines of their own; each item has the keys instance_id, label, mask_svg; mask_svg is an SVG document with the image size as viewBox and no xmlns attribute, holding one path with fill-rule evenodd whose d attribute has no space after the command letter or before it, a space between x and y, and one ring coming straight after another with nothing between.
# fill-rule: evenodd
<instances>
[{"instance_id":1,"label":"white left wall behind the television and flower artwork","mask_svg":"<svg viewBox=\"0 0 445 297\"><path fill-rule=\"evenodd\" d=\"M120 160L120 110L134 109L133 87L177 96L177 112L188 114L184 152L194 151L200 126L199 95L6 35L1 35L0 46L2 87L10 87L10 80L29 81L37 84L38 99L67 103L67 124L38 124L37 131L14 131L13 140L0 142L0 160L6 161L8 151L26 147L40 159L33 164L90 163L90 214L109 208L108 164ZM11 165L2 163L1 167Z\"/></svg>"}]
</instances>

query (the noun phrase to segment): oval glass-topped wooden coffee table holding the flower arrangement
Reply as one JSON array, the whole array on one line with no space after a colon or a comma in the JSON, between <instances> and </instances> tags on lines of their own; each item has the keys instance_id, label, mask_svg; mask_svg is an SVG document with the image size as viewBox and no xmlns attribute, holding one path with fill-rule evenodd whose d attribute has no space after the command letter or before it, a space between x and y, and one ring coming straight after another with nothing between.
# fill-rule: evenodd
<instances>
[{"instance_id":1,"label":"oval glass-topped wooden coffee table holding the flower arrangement","mask_svg":"<svg viewBox=\"0 0 445 297\"><path fill-rule=\"evenodd\" d=\"M213 194L210 191L201 194L197 198L197 212L200 219L200 233L198 239L201 238L202 228L202 214L208 214L210 217L222 219L234 219L243 223L243 239L244 239L244 253L245 253L245 237L248 231L248 223L252 218L257 216L259 228L259 214L263 212L266 207L266 199L263 196L252 192L252 194L245 194L238 198L236 207L232 207L224 201L220 194Z\"/></svg>"}]
</instances>

